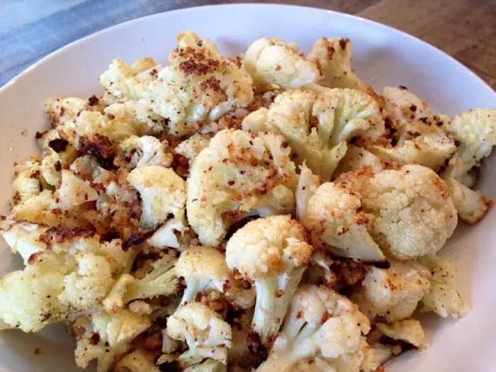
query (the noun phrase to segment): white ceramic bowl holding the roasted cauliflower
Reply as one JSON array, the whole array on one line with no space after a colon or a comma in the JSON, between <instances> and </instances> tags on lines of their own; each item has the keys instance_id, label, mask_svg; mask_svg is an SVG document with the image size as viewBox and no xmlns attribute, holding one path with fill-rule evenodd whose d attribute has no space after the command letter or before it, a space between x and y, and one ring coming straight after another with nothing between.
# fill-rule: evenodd
<instances>
[{"instance_id":1,"label":"white ceramic bowl holding the roasted cauliflower","mask_svg":"<svg viewBox=\"0 0 496 372\"><path fill-rule=\"evenodd\" d=\"M240 4L204 6L156 14L100 31L63 47L37 62L0 89L0 190L2 213L8 213L13 162L37 152L34 135L48 128L46 98L90 96L101 91L98 76L116 57L133 62L152 56L167 61L176 33L193 30L211 38L222 53L242 52L260 36L283 38L308 52L321 36L350 38L354 67L364 81L383 86L405 85L429 99L432 110L452 115L469 108L496 108L496 94L453 58L410 35L342 13L296 6ZM27 130L28 136L23 135ZM493 198L494 159L485 162L478 187ZM409 352L388 363L388 371L496 371L496 213L490 210L475 226L460 226L441 251L456 260L462 292L473 310L457 322L424 318L429 348ZM0 274L21 267L5 244ZM34 350L40 348L41 354ZM74 343L62 327L36 335L0 332L0 372L79 371Z\"/></svg>"}]
</instances>

